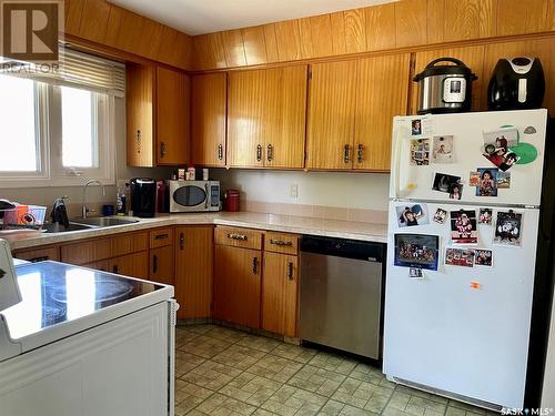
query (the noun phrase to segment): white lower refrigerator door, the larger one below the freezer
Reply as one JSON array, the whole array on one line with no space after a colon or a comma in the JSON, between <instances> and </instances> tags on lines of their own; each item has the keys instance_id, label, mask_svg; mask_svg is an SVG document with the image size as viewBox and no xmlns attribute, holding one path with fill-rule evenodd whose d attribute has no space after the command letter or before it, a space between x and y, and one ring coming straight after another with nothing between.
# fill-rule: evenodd
<instances>
[{"instance_id":1,"label":"white lower refrigerator door, the larger one below the freezer","mask_svg":"<svg viewBox=\"0 0 555 416\"><path fill-rule=\"evenodd\" d=\"M420 203L427 207L430 224L400 227L396 207L406 204L390 202L384 373L389 378L522 408L538 210L514 210L523 214L519 247L493 245L495 224L478 224L477 244L457 247L492 250L493 266L464 267L445 265L445 245L452 243L450 216L444 224L432 216L437 207L476 210L478 215L478 205ZM494 209L494 219L500 211L508 210ZM423 278L414 278L410 268L395 266L397 233L438 235L437 271L423 270Z\"/></svg>"}]
</instances>

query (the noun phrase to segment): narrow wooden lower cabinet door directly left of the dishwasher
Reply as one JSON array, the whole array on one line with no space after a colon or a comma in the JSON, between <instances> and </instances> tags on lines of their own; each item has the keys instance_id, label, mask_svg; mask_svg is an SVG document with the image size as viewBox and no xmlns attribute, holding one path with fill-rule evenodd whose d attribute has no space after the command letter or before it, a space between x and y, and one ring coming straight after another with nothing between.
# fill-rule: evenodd
<instances>
[{"instance_id":1,"label":"narrow wooden lower cabinet door directly left of the dishwasher","mask_svg":"<svg viewBox=\"0 0 555 416\"><path fill-rule=\"evenodd\" d=\"M264 252L262 328L290 337L296 334L297 258Z\"/></svg>"}]
</instances>

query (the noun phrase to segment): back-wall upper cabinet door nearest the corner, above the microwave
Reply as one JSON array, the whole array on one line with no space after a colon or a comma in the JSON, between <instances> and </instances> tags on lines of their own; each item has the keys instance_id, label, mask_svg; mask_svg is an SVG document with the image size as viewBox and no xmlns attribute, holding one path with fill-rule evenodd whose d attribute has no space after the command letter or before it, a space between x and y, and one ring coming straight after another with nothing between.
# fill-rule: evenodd
<instances>
[{"instance_id":1,"label":"back-wall upper cabinet door nearest the corner, above the microwave","mask_svg":"<svg viewBox=\"0 0 555 416\"><path fill-rule=\"evenodd\" d=\"M192 162L203 166L225 165L225 116L228 75L193 75L192 90Z\"/></svg>"}]
</instances>

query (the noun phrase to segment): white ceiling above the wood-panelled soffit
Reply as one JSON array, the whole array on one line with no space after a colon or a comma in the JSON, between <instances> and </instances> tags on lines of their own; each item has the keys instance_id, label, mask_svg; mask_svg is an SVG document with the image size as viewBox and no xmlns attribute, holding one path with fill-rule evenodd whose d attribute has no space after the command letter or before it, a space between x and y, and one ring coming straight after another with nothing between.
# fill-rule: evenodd
<instances>
[{"instance_id":1,"label":"white ceiling above the wood-panelled soffit","mask_svg":"<svg viewBox=\"0 0 555 416\"><path fill-rule=\"evenodd\" d=\"M395 0L109 0L188 34L325 14Z\"/></svg>"}]
</instances>

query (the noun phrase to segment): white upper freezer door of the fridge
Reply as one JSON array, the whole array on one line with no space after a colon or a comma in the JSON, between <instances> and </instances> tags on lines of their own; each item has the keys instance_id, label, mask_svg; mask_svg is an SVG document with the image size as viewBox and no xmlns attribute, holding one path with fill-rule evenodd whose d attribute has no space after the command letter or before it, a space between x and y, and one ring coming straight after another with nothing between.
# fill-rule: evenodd
<instances>
[{"instance_id":1,"label":"white upper freezer door of the fridge","mask_svg":"<svg viewBox=\"0 0 555 416\"><path fill-rule=\"evenodd\" d=\"M418 131L413 130L413 121L415 120L420 120L421 134L414 134ZM546 123L547 110L545 109L396 116L393 122L390 197L427 201L448 200L448 191L441 192L432 189L435 173L443 173L461 177L463 185L461 201L480 204L537 206L542 191ZM519 152L529 154L535 149L537 158L527 164L514 164L506 171L511 173L509 189L497 190L495 197L477 196L476 186L468 184L470 173L477 171L478 168L496 168L483 155L484 132L491 132L495 138L493 132L500 131L502 126L516 128L518 143L529 144L524 145L525 153L523 153L523 148L519 148ZM453 152L450 156L438 155L437 148L434 146L434 138L437 138L436 143L438 143L438 138L445 136L453 136ZM421 139L424 140L424 144L425 140L428 140L427 156L425 148L417 148L422 151L421 153L415 154L414 152L413 141ZM511 149L511 145L508 148ZM426 159L430 161L427 164ZM446 191L445 187L443 190Z\"/></svg>"}]
</instances>

